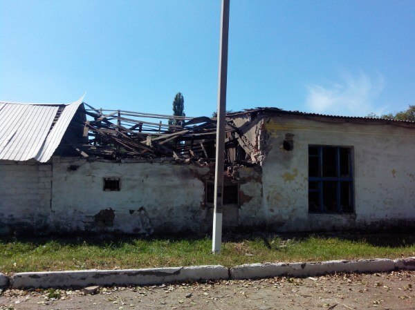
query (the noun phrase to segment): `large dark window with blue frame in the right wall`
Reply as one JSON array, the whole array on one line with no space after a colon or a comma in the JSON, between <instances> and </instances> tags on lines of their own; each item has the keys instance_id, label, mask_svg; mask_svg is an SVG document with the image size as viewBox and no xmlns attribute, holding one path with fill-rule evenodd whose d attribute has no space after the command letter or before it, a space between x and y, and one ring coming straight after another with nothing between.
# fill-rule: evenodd
<instances>
[{"instance_id":1,"label":"large dark window with blue frame in the right wall","mask_svg":"<svg viewBox=\"0 0 415 310\"><path fill-rule=\"evenodd\" d=\"M308 146L308 212L353 213L351 147Z\"/></svg>"}]
</instances>

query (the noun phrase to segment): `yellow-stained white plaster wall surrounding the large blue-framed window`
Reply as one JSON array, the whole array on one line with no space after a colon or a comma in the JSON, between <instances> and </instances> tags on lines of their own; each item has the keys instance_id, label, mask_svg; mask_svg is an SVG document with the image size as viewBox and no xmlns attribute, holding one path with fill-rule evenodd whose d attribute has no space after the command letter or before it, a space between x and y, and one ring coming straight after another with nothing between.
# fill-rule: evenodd
<instances>
[{"instance_id":1,"label":"yellow-stained white plaster wall surrounding the large blue-framed window","mask_svg":"<svg viewBox=\"0 0 415 310\"><path fill-rule=\"evenodd\" d=\"M415 129L387 124L273 117L262 162L268 229L319 231L387 228L415 222ZM282 148L294 134L293 151ZM308 213L308 145L352 146L355 213Z\"/></svg>"}]
</instances>

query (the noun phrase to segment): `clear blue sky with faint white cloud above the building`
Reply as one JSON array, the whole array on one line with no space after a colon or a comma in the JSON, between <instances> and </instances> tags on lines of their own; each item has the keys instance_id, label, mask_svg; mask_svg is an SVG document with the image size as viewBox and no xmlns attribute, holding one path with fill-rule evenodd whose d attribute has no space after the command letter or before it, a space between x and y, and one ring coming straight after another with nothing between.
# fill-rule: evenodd
<instances>
[{"instance_id":1,"label":"clear blue sky with faint white cloud above the building","mask_svg":"<svg viewBox=\"0 0 415 310\"><path fill-rule=\"evenodd\" d=\"M216 109L220 0L0 1L0 101ZM228 110L415 104L415 1L231 0Z\"/></svg>"}]
</instances>

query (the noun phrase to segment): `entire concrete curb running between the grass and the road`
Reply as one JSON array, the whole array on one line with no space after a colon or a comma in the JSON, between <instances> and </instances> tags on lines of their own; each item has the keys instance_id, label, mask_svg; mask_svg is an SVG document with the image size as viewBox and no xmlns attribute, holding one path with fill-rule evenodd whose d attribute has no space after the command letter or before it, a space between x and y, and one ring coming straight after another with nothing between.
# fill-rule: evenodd
<instances>
[{"instance_id":1,"label":"entire concrete curb running between the grass and the road","mask_svg":"<svg viewBox=\"0 0 415 310\"><path fill-rule=\"evenodd\" d=\"M0 273L0 287L12 289L48 287L88 287L91 285L152 285L169 282L272 278L279 275L309 277L329 273L374 273L415 270L415 257L398 260L329 260L244 264L233 268L220 265L154 269L79 270L16 273L9 278Z\"/></svg>"}]
</instances>

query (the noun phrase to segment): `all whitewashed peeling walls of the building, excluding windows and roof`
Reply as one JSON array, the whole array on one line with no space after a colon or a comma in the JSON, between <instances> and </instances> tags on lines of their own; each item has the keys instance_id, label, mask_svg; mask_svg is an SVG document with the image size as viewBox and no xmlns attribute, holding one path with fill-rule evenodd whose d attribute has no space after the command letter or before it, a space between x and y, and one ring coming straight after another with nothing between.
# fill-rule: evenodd
<instances>
[{"instance_id":1,"label":"all whitewashed peeling walls of the building, excluding windows and roof","mask_svg":"<svg viewBox=\"0 0 415 310\"><path fill-rule=\"evenodd\" d=\"M415 129L387 124L273 117L249 128L265 159L236 168L237 223L246 229L321 231L415 222ZM253 135L260 135L256 137ZM285 151L286 133L294 135ZM308 213L308 145L352 148L355 212ZM76 170L70 166L77 166ZM0 235L19 233L206 233L210 168L170 162L0 162ZM105 177L120 191L104 191Z\"/></svg>"}]
</instances>

